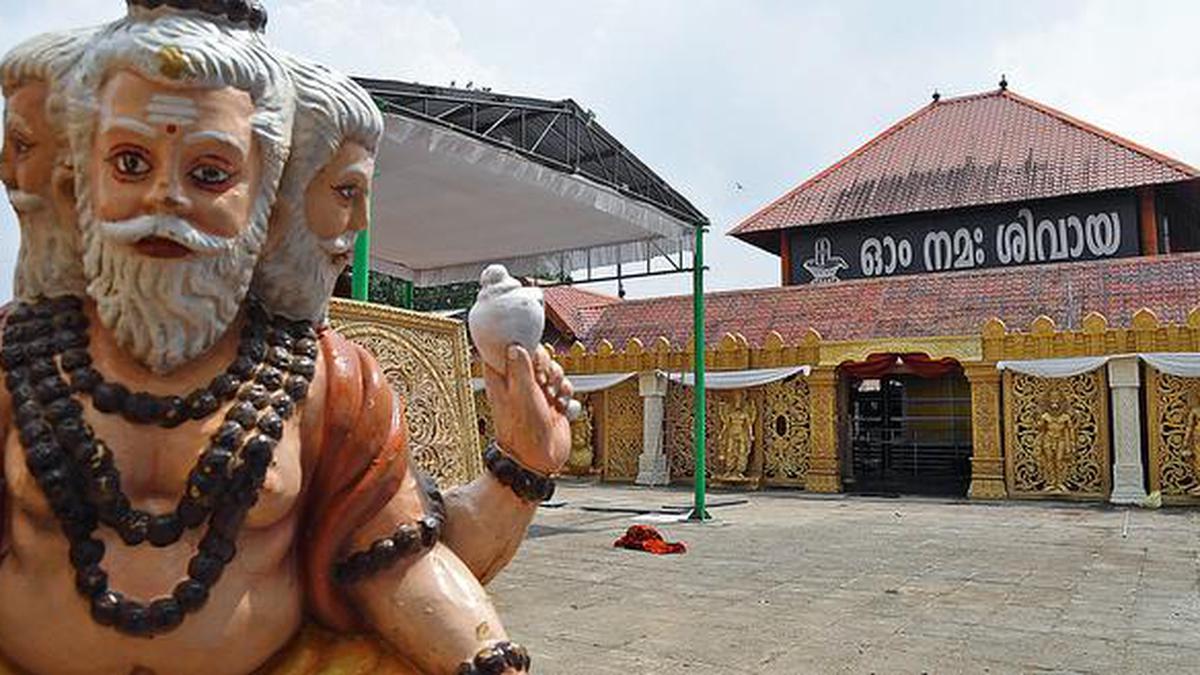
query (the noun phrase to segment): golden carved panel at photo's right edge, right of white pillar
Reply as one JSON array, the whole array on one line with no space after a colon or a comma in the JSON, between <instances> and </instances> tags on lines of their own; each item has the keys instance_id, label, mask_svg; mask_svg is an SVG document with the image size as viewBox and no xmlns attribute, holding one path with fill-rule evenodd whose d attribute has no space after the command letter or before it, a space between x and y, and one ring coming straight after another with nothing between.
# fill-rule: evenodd
<instances>
[{"instance_id":1,"label":"golden carved panel at photo's right edge, right of white pillar","mask_svg":"<svg viewBox=\"0 0 1200 675\"><path fill-rule=\"evenodd\" d=\"M1146 375L1150 489L1168 503L1200 503L1200 380Z\"/></svg>"}]
</instances>

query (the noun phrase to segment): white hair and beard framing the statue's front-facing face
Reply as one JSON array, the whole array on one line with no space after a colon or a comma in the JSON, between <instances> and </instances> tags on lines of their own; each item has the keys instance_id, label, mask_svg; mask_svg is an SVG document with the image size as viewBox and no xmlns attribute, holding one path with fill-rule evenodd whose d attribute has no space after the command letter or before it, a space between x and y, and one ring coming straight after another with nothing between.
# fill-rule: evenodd
<instances>
[{"instance_id":1,"label":"white hair and beard framing the statue's front-facing face","mask_svg":"<svg viewBox=\"0 0 1200 675\"><path fill-rule=\"evenodd\" d=\"M251 127L260 178L250 223L215 258L146 258L107 239L95 216L91 177L85 168L76 172L88 293L122 348L168 371L208 351L236 318L250 291L290 148L292 79L248 30L194 13L133 13L106 26L76 67L70 133L79 167L88 167L95 151L100 94L116 70L170 86L234 88L247 92L254 106Z\"/></svg>"}]
</instances>

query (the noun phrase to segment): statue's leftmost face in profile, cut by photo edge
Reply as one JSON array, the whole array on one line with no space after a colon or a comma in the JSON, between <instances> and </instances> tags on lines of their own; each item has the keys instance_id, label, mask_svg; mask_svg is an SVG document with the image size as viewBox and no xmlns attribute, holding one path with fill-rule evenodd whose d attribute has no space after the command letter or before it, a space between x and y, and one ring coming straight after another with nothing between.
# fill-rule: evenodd
<instances>
[{"instance_id":1,"label":"statue's leftmost face in profile, cut by photo edge","mask_svg":"<svg viewBox=\"0 0 1200 675\"><path fill-rule=\"evenodd\" d=\"M53 205L55 136L46 119L47 85L30 80L5 102L0 181L17 215L24 217Z\"/></svg>"}]
</instances>

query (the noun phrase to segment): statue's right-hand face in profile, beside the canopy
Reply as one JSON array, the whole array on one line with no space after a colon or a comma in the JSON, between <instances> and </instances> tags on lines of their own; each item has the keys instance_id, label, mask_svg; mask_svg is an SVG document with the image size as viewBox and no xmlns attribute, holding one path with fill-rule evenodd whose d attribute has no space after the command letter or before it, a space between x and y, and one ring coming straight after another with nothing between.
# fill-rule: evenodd
<instances>
[{"instance_id":1,"label":"statue's right-hand face in profile, beside the canopy","mask_svg":"<svg viewBox=\"0 0 1200 675\"><path fill-rule=\"evenodd\" d=\"M329 240L367 227L374 156L359 143L337 150L305 191L305 220L318 239Z\"/></svg>"}]
</instances>

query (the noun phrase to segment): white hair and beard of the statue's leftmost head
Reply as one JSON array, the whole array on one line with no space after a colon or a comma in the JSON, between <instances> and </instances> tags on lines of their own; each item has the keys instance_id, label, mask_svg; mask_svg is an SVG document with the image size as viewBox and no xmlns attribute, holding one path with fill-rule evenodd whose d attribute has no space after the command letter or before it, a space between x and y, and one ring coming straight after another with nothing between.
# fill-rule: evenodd
<instances>
[{"instance_id":1,"label":"white hair and beard of the statue's leftmost head","mask_svg":"<svg viewBox=\"0 0 1200 675\"><path fill-rule=\"evenodd\" d=\"M44 114L55 135L55 162L66 168L71 166L71 148L62 84L96 30L46 32L17 44L0 59L0 90L5 97L29 83L46 83ZM13 293L19 300L84 292L79 228L73 217L58 222L59 215L47 207L19 219L20 249L13 270Z\"/></svg>"}]
</instances>

